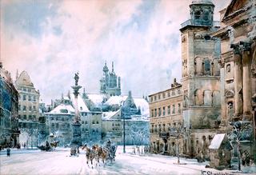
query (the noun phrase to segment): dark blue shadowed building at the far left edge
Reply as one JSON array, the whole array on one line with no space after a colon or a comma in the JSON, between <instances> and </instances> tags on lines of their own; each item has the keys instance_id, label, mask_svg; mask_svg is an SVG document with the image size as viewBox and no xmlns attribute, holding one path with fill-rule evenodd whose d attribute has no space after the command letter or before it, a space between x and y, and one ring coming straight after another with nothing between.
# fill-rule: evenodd
<instances>
[{"instance_id":1,"label":"dark blue shadowed building at the far left edge","mask_svg":"<svg viewBox=\"0 0 256 175\"><path fill-rule=\"evenodd\" d=\"M0 62L0 147L19 147L18 90ZM1 150L0 149L0 150Z\"/></svg>"}]
</instances>

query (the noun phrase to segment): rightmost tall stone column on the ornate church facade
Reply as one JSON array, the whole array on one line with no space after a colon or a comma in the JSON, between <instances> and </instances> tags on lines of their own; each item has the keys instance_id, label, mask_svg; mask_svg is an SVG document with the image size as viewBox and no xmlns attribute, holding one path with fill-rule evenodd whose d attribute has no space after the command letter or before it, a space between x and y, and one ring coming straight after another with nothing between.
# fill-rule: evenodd
<instances>
[{"instance_id":1,"label":"rightmost tall stone column on the ornate church facade","mask_svg":"<svg viewBox=\"0 0 256 175\"><path fill-rule=\"evenodd\" d=\"M251 42L240 42L240 45L242 45L243 120L251 121Z\"/></svg>"}]
</instances>

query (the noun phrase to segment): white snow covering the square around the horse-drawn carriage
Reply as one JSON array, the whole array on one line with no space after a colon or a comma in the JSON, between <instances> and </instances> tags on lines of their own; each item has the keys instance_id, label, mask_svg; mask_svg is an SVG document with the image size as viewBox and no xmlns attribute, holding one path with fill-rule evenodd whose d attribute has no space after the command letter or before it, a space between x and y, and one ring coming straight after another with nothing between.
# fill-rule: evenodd
<instances>
[{"instance_id":1,"label":"white snow covering the square around the horse-drawn carriage","mask_svg":"<svg viewBox=\"0 0 256 175\"><path fill-rule=\"evenodd\" d=\"M14 152L15 150L11 151L10 157L6 157L6 154L0 156L0 174L234 174L231 171L206 169L206 163L199 164L194 159L181 158L181 163L186 165L175 165L177 157L133 154L130 146L126 147L126 153L122 153L122 146L118 146L113 164L108 163L106 167L98 166L94 169L86 165L84 151L78 157L70 157L70 149L63 148L54 152Z\"/></svg>"}]
</instances>

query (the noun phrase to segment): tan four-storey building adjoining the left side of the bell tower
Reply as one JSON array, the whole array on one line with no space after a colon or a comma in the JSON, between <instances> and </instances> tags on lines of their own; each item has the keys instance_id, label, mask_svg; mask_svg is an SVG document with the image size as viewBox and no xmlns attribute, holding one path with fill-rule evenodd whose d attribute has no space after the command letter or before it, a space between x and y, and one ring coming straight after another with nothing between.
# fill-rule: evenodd
<instances>
[{"instance_id":1,"label":"tan four-storey building adjoining the left side of the bell tower","mask_svg":"<svg viewBox=\"0 0 256 175\"><path fill-rule=\"evenodd\" d=\"M175 155L179 146L183 153L184 138L171 135L171 130L181 128L182 85L176 82L170 89L150 94L150 151Z\"/></svg>"}]
</instances>

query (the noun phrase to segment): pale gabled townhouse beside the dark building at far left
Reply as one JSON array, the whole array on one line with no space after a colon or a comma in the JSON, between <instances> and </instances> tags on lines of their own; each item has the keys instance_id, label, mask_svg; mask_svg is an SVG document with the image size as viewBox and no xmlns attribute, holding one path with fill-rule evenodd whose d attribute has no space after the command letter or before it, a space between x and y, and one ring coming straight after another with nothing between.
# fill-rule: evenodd
<instances>
[{"instance_id":1,"label":"pale gabled townhouse beside the dark building at far left","mask_svg":"<svg viewBox=\"0 0 256 175\"><path fill-rule=\"evenodd\" d=\"M19 140L27 146L38 145L39 125L39 90L34 88L26 71L16 75L15 87L18 89L18 125L21 129Z\"/></svg>"}]
</instances>

